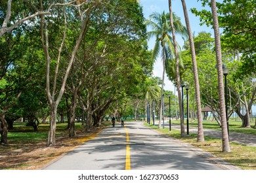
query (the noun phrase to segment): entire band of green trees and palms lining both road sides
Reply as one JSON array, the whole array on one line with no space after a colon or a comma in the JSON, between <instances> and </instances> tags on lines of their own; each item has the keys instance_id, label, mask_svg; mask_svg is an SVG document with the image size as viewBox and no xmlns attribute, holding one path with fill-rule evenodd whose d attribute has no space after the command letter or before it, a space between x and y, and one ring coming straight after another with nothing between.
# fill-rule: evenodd
<instances>
[{"instance_id":1,"label":"entire band of green trees and palms lining both road sides","mask_svg":"<svg viewBox=\"0 0 256 183\"><path fill-rule=\"evenodd\" d=\"M223 152L229 152L225 105L228 117L236 112L242 126L250 127L249 114L255 103L256 34L251 8L255 3L202 0L211 12L195 8L192 12L202 24L213 25L213 39L209 33L192 34L184 0L186 25L168 2L169 12L154 12L145 20L137 1L1 1L1 143L7 144L8 129L20 117L35 130L39 118L44 122L48 117L47 145L51 146L56 143L57 116L61 121L67 116L73 137L77 116L86 119L85 130L89 130L100 125L104 116L145 114L147 105L153 103L161 127L162 96L167 95L172 103L179 101L183 137L181 88L189 84L190 104L198 118L198 142L204 141L201 108L210 106L222 127ZM146 32L147 26L152 31ZM219 27L224 29L221 37ZM177 44L178 34L184 37L184 48ZM148 50L147 40L153 37L156 44ZM163 61L161 79L152 76L158 56ZM223 64L230 68L227 104ZM177 97L163 90L165 72L177 87Z\"/></svg>"}]
</instances>

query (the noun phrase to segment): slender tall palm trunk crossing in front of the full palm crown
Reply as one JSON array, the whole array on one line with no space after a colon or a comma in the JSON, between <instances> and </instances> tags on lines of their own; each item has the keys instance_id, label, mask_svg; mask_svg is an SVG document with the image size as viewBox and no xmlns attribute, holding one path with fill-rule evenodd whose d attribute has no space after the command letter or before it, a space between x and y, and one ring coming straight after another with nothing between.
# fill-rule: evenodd
<instances>
[{"instance_id":1,"label":"slender tall palm trunk crossing in front of the full palm crown","mask_svg":"<svg viewBox=\"0 0 256 183\"><path fill-rule=\"evenodd\" d=\"M171 0L169 0L169 10L170 10L171 31L173 34L173 45L175 50L176 74L177 74L176 79L177 79L177 88L178 88L178 96L179 96L179 108L180 108L180 115L181 115L181 137L184 137L185 127L184 127L184 116L183 116L182 99L181 99L181 76L180 76L180 69L179 69L179 56L178 56L177 42L176 42L176 36L175 36L175 27L173 25L173 10L171 8Z\"/></svg>"}]
</instances>

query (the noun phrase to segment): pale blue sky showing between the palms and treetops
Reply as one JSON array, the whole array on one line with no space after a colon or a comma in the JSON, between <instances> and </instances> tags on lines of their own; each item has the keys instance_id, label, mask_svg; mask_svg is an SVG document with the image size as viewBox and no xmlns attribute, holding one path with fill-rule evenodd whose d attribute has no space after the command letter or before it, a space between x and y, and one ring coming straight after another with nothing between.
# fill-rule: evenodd
<instances>
[{"instance_id":1,"label":"pale blue sky showing between the palms and treetops","mask_svg":"<svg viewBox=\"0 0 256 183\"><path fill-rule=\"evenodd\" d=\"M149 19L149 15L153 12L169 12L169 3L168 0L140 0L140 5L143 7L143 13L144 17L146 19ZM182 8L182 3L180 0L172 0L172 7L173 12L177 14L181 18L181 22L183 25L186 25L184 20L184 13ZM198 0L187 0L186 1L186 8L188 10L188 16L190 19L190 27L192 29L192 32L195 33L195 35L198 35L198 33L202 31L206 31L208 33L211 33L213 36L213 29L211 27L207 27L206 25L200 25L200 18L191 12L191 8L196 8L198 10L201 10L206 7L202 7L202 3ZM210 9L209 9L210 10ZM183 40L181 37L177 37L177 42L180 46L183 45ZM148 48L149 50L152 50L154 48L154 39L151 39L148 42ZM163 75L163 63L161 62L161 59L159 58L156 63L154 64L154 76L159 76L162 78ZM167 75L165 75L165 90L173 91L174 92L174 86L167 78Z\"/></svg>"}]
</instances>

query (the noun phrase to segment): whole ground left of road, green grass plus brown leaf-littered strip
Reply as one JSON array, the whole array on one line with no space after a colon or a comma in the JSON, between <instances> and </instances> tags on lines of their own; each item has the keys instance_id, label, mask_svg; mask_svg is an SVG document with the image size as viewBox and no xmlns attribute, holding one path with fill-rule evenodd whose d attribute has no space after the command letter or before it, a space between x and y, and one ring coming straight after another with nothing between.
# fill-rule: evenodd
<instances>
[{"instance_id":1,"label":"whole ground left of road, green grass plus brown leaf-littered strip","mask_svg":"<svg viewBox=\"0 0 256 183\"><path fill-rule=\"evenodd\" d=\"M0 169L40 169L43 165L68 152L82 142L89 141L104 128L93 127L85 133L81 123L75 123L77 135L68 137L67 124L56 124L56 145L47 146L49 124L39 124L38 131L26 123L14 123L8 132L8 145L0 145Z\"/></svg>"}]
</instances>

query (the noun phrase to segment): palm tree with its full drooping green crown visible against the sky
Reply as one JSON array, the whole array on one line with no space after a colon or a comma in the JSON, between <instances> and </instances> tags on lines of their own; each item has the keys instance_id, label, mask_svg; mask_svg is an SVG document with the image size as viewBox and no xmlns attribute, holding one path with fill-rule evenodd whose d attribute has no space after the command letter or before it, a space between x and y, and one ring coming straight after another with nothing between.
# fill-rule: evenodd
<instances>
[{"instance_id":1,"label":"palm tree with its full drooping green crown visible against the sky","mask_svg":"<svg viewBox=\"0 0 256 183\"><path fill-rule=\"evenodd\" d=\"M177 29L177 33L181 35L186 33L186 28L181 24L180 18L173 14L175 18L175 28ZM163 61L163 76L162 76L162 84L161 84L161 96L163 95L163 86L165 79L165 68L168 60L172 60L173 57L173 41L171 35L171 27L169 24L169 13L165 14L163 11L162 14L158 12L154 12L150 15L150 19L146 20L146 25L150 26L152 31L148 31L148 39L152 37L156 37L156 44L154 46L152 52L152 59L156 61L157 57L160 54L161 48L161 59ZM161 97L161 107L160 107L160 120L158 127L161 128L161 116L162 116L162 105L163 100Z\"/></svg>"}]
</instances>

